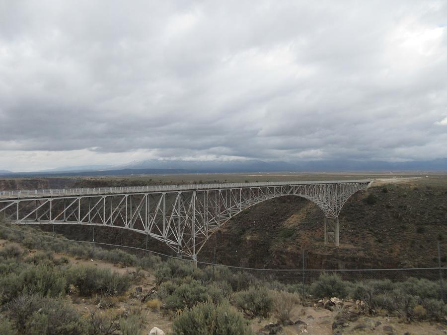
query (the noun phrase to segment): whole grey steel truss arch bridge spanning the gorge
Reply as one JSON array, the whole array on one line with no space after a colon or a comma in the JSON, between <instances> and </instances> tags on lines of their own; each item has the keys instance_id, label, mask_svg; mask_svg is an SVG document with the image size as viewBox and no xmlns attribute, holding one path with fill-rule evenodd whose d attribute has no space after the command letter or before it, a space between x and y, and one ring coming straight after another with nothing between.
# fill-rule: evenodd
<instances>
[{"instance_id":1,"label":"whole grey steel truss arch bridge spanning the gorge","mask_svg":"<svg viewBox=\"0 0 447 335\"><path fill-rule=\"evenodd\" d=\"M16 224L109 226L146 234L197 261L210 235L242 210L288 195L324 213L324 242L339 246L338 215L370 180L225 183L0 191L0 217Z\"/></svg>"}]
</instances>

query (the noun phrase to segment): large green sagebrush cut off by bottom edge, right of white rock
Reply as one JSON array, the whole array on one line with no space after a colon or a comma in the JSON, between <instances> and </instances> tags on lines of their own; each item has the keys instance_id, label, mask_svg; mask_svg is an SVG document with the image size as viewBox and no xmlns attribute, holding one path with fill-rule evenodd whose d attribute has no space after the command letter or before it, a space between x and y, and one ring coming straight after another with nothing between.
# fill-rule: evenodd
<instances>
[{"instance_id":1,"label":"large green sagebrush cut off by bottom edge, right of white rock","mask_svg":"<svg viewBox=\"0 0 447 335\"><path fill-rule=\"evenodd\" d=\"M241 313L229 304L199 303L180 314L172 325L174 335L252 335Z\"/></svg>"}]
</instances>

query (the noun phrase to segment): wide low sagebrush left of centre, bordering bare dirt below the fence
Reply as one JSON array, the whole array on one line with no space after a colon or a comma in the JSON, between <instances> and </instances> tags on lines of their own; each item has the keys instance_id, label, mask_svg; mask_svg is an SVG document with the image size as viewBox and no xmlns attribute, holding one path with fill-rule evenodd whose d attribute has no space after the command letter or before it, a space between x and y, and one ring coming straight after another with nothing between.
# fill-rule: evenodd
<instances>
[{"instance_id":1,"label":"wide low sagebrush left of centre, bordering bare dirt below the fence","mask_svg":"<svg viewBox=\"0 0 447 335\"><path fill-rule=\"evenodd\" d=\"M68 281L83 296L92 294L121 295L131 285L131 277L110 269L98 269L91 266L74 266L68 271Z\"/></svg>"}]
</instances>

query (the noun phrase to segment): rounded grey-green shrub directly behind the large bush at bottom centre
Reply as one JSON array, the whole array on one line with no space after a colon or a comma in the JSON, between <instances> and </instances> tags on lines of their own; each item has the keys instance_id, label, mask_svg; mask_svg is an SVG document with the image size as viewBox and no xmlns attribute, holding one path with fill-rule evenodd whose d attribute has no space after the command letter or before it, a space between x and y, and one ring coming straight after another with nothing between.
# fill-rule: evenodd
<instances>
[{"instance_id":1,"label":"rounded grey-green shrub directly behind the large bush at bottom centre","mask_svg":"<svg viewBox=\"0 0 447 335\"><path fill-rule=\"evenodd\" d=\"M164 301L164 307L168 310L174 311L187 307L191 308L198 302L207 301L208 298L210 298L210 295L207 288L202 285L201 282L191 279L187 283L173 287L173 291Z\"/></svg>"}]
</instances>

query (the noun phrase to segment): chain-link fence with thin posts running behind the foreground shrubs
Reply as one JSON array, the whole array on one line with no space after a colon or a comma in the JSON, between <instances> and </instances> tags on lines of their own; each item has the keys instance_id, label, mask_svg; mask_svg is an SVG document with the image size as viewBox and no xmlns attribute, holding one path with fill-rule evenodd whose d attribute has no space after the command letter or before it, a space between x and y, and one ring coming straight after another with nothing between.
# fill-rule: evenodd
<instances>
[{"instance_id":1,"label":"chain-link fence with thin posts running behind the foreground shrubs","mask_svg":"<svg viewBox=\"0 0 447 335\"><path fill-rule=\"evenodd\" d=\"M147 266L154 269L159 266L160 260L178 260L186 265L194 265L189 259L176 258L146 248L74 241L57 236L54 232L42 232L10 224L0 224L0 239L18 242L30 249L51 250L143 268ZM438 259L439 266L430 268L306 269L305 262L300 269L243 268L206 262L197 262L197 267L213 268L215 280L225 272L225 275L232 276L232 280L239 280L242 286L262 284L272 289L296 292L302 297L315 297L315 290L326 290L328 294L332 291L345 296L349 292L354 298L383 295L385 299L409 294L446 301L447 268L444 268L441 262L443 257L439 243Z\"/></svg>"}]
</instances>

